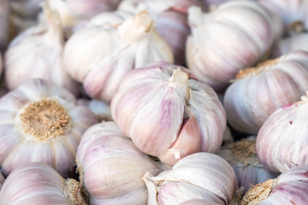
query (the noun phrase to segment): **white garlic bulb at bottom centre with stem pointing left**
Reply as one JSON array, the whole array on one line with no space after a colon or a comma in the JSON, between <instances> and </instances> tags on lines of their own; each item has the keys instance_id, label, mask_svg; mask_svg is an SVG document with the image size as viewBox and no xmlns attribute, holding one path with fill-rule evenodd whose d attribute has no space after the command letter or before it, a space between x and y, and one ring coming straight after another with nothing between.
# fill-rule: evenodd
<instances>
[{"instance_id":1,"label":"white garlic bulb at bottom centre with stem pointing left","mask_svg":"<svg viewBox=\"0 0 308 205\"><path fill-rule=\"evenodd\" d=\"M181 204L196 198L229 204L238 183L227 161L204 152L185 156L158 176L146 172L142 179L149 190L149 205Z\"/></svg>"}]
</instances>

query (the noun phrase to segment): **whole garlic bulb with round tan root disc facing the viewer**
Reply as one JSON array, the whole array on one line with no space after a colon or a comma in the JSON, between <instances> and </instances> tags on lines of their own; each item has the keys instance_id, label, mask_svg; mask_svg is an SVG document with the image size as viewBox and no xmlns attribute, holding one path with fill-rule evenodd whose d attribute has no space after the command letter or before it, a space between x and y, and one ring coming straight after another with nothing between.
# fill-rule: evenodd
<instances>
[{"instance_id":1,"label":"whole garlic bulb with round tan root disc facing the viewer","mask_svg":"<svg viewBox=\"0 0 308 205\"><path fill-rule=\"evenodd\" d=\"M34 79L0 99L0 167L8 176L27 162L41 162L62 176L73 172L81 135L97 117L77 107L70 92Z\"/></svg>"}]
</instances>

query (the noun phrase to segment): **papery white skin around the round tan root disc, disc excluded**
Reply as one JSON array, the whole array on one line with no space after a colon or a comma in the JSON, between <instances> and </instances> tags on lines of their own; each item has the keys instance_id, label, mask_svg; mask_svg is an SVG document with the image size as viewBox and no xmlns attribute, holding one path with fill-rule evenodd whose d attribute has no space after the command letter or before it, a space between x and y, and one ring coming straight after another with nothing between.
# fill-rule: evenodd
<instances>
[{"instance_id":1,"label":"papery white skin around the round tan root disc, disc excluded","mask_svg":"<svg viewBox=\"0 0 308 205\"><path fill-rule=\"evenodd\" d=\"M66 135L38 142L25 133L19 115L30 103L43 99L56 99L70 116L70 125ZM5 176L27 162L46 163L62 176L67 176L73 172L81 135L97 123L97 117L90 109L76 106L73 94L38 79L28 81L3 96L0 116L0 166Z\"/></svg>"}]
</instances>

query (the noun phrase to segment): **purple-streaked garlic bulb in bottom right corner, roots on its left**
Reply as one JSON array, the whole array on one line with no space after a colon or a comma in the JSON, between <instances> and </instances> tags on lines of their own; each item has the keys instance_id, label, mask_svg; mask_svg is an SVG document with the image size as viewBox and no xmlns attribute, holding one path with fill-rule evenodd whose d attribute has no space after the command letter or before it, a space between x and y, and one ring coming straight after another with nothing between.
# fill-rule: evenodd
<instances>
[{"instance_id":1,"label":"purple-streaked garlic bulb in bottom right corner, roots on its left","mask_svg":"<svg viewBox=\"0 0 308 205\"><path fill-rule=\"evenodd\" d=\"M257 184L244 195L240 205L307 204L308 167L293 167L276 179Z\"/></svg>"}]
</instances>

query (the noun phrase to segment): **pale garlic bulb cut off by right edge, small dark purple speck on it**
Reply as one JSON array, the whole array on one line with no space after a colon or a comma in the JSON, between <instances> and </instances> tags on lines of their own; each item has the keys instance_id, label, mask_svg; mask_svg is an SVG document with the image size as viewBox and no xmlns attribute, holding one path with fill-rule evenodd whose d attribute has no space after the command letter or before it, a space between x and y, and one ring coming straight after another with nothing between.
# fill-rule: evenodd
<instances>
[{"instance_id":1,"label":"pale garlic bulb cut off by right edge, small dark purple speck on it","mask_svg":"<svg viewBox=\"0 0 308 205\"><path fill-rule=\"evenodd\" d=\"M308 165L308 98L301 99L272 113L257 135L257 156L272 172Z\"/></svg>"}]
</instances>

